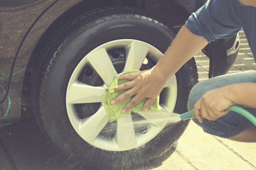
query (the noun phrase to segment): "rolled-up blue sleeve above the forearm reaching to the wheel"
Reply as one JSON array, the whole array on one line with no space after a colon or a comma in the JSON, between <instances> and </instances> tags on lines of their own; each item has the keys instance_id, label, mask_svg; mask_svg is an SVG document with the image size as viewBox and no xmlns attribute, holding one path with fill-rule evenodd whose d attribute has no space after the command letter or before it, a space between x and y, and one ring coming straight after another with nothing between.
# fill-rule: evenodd
<instances>
[{"instance_id":1,"label":"rolled-up blue sleeve above the forearm reaching to the wheel","mask_svg":"<svg viewBox=\"0 0 256 170\"><path fill-rule=\"evenodd\" d=\"M186 21L188 30L208 42L235 36L242 28L236 0L210 0Z\"/></svg>"}]
</instances>

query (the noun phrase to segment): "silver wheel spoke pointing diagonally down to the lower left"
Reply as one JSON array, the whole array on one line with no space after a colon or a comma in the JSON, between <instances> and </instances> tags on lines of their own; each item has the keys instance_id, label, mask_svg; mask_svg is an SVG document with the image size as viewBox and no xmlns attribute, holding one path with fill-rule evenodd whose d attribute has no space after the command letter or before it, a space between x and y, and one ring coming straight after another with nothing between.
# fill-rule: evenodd
<instances>
[{"instance_id":1,"label":"silver wheel spoke pointing diagonally down to the lower left","mask_svg":"<svg viewBox=\"0 0 256 170\"><path fill-rule=\"evenodd\" d=\"M101 106L97 113L90 118L81 120L79 127L80 134L87 142L93 142L105 125L107 125L108 121L104 107Z\"/></svg>"}]
</instances>

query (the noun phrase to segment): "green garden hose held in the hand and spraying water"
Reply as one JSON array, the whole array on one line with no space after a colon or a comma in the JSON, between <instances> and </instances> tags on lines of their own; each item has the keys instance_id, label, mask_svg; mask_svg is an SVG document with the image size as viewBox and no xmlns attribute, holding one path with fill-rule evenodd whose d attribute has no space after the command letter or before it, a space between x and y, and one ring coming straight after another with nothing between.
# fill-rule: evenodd
<instances>
[{"instance_id":1,"label":"green garden hose held in the hand and spraying water","mask_svg":"<svg viewBox=\"0 0 256 170\"><path fill-rule=\"evenodd\" d=\"M227 110L234 111L236 113L239 113L240 115L243 115L245 118L250 120L253 125L256 126L255 116L252 115L250 112L246 111L245 109L234 105L234 106L228 107ZM196 118L196 115L195 115L194 110L192 110L192 111L188 111L186 113L181 114L180 118L181 118L181 120L188 120L188 119L191 119L191 118Z\"/></svg>"}]
</instances>

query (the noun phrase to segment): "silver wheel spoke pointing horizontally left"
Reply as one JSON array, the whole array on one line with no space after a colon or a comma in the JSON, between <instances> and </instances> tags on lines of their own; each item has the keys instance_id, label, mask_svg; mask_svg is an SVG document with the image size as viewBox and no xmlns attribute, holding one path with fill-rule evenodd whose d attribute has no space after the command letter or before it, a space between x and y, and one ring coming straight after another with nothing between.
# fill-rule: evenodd
<instances>
[{"instance_id":1,"label":"silver wheel spoke pointing horizontally left","mask_svg":"<svg viewBox=\"0 0 256 170\"><path fill-rule=\"evenodd\" d=\"M106 93L103 86L89 86L80 81L71 84L67 91L67 103L96 103L102 102L101 97Z\"/></svg>"}]
</instances>

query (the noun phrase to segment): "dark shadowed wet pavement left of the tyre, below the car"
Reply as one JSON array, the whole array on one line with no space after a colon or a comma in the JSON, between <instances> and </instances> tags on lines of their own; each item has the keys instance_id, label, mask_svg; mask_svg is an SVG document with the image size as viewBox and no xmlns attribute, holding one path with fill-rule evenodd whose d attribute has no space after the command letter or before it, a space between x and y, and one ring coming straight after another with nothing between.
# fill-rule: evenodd
<instances>
[{"instance_id":1,"label":"dark shadowed wet pavement left of the tyre, below the car","mask_svg":"<svg viewBox=\"0 0 256 170\"><path fill-rule=\"evenodd\" d=\"M1 170L80 169L48 143L32 117L1 128L0 135Z\"/></svg>"}]
</instances>

